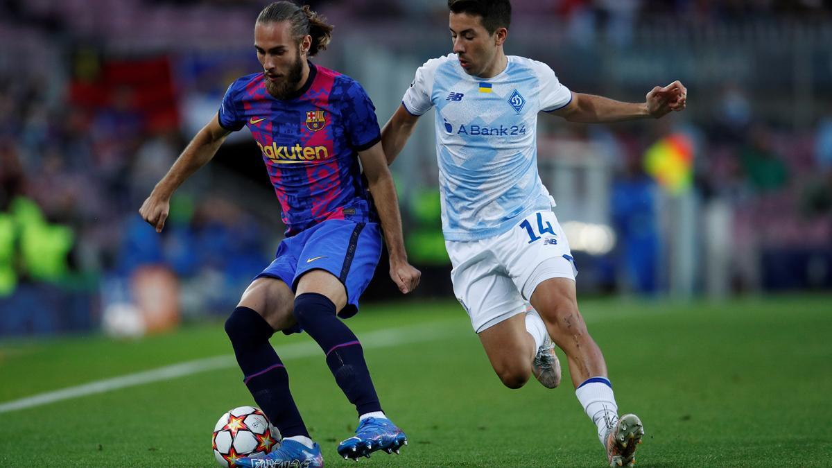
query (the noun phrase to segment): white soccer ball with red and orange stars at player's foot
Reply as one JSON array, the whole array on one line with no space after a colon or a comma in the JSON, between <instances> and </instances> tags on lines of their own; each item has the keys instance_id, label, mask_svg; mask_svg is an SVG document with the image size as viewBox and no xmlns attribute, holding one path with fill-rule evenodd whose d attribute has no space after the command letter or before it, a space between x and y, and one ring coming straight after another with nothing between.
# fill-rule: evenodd
<instances>
[{"instance_id":1,"label":"white soccer ball with red and orange stars at player's foot","mask_svg":"<svg viewBox=\"0 0 832 468\"><path fill-rule=\"evenodd\" d=\"M220 466L233 468L238 458L260 458L275 450L280 446L280 431L260 409L240 406L216 421L211 442Z\"/></svg>"}]
</instances>

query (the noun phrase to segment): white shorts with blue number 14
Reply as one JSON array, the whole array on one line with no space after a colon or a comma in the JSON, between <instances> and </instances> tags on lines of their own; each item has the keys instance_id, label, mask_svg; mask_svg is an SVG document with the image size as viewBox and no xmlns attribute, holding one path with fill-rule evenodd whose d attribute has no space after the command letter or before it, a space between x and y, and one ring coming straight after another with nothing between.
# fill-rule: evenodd
<instances>
[{"instance_id":1,"label":"white shorts with blue number 14","mask_svg":"<svg viewBox=\"0 0 832 468\"><path fill-rule=\"evenodd\" d=\"M535 212L511 231L477 241L445 241L453 293L479 333L527 310L537 285L575 280L567 236L552 212Z\"/></svg>"}]
</instances>

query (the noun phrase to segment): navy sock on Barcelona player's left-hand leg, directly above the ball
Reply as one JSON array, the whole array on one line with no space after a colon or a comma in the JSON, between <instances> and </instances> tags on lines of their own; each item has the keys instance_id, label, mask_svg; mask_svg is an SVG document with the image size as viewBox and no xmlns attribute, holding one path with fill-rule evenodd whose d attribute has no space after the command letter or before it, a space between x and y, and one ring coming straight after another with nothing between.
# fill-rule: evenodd
<instances>
[{"instance_id":1,"label":"navy sock on Barcelona player's left-hand leg, directly above the ball","mask_svg":"<svg viewBox=\"0 0 832 468\"><path fill-rule=\"evenodd\" d=\"M269 322L248 307L237 307L225 321L225 333L234 346L245 386L280 435L309 437L289 391L289 374L269 343L275 333Z\"/></svg>"}]
</instances>

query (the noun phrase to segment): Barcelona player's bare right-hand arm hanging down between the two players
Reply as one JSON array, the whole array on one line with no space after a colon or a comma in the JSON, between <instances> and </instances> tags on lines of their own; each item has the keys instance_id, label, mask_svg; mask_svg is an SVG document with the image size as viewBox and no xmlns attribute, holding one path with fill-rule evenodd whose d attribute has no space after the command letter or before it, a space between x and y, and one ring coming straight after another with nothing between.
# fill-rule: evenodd
<instances>
[{"instance_id":1,"label":"Barcelona player's bare right-hand arm hanging down between the two players","mask_svg":"<svg viewBox=\"0 0 832 468\"><path fill-rule=\"evenodd\" d=\"M376 210L379 212L384 241L390 254L390 278L399 291L407 294L418 286L422 273L408 263L404 250L402 235L402 217L399 214L399 198L393 185L393 176L387 167L382 143L376 143L369 149L359 152L364 175L369 182L369 191L373 194Z\"/></svg>"}]
</instances>

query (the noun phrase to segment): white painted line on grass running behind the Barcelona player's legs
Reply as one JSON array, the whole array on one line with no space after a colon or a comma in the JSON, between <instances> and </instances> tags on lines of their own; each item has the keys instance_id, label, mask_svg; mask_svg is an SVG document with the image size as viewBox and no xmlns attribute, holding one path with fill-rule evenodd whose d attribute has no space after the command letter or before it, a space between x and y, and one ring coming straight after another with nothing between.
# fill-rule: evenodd
<instances>
[{"instance_id":1,"label":"white painted line on grass running behind the Barcelona player's legs","mask_svg":"<svg viewBox=\"0 0 832 468\"><path fill-rule=\"evenodd\" d=\"M429 325L388 328L364 333L359 339L364 349L399 346L405 343L430 341L459 334L459 330L456 330L454 325L457 324L451 321L438 321ZM275 349L280 355L281 360L316 356L323 352L314 341L278 346ZM62 390L48 391L34 396L27 396L19 400L7 401L0 404L0 413L24 410L35 406L48 405L56 401L70 400L72 398L120 390L131 386L140 386L157 381L169 381L179 377L192 376L201 372L215 371L235 366L237 366L237 361L233 355L214 356L197 359L195 361L181 362L171 366L159 367L151 371L136 372L126 376L92 381L80 386L71 386Z\"/></svg>"}]
</instances>

